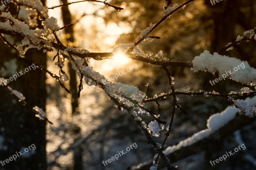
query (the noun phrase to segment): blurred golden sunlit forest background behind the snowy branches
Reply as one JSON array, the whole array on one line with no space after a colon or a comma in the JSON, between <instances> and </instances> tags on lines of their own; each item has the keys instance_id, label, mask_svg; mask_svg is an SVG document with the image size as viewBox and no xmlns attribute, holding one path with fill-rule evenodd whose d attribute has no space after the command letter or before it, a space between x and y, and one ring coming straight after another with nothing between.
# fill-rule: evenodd
<instances>
[{"instance_id":1,"label":"blurred golden sunlit forest background behind the snowy branches","mask_svg":"<svg viewBox=\"0 0 256 170\"><path fill-rule=\"evenodd\" d=\"M62 2L65 4L67 0L62 0ZM111 52L118 44L132 43L138 37L140 31L161 18L165 1L112 0L108 2L120 6L124 10L117 12L104 4L91 2L71 4L49 10L49 16L57 18L60 26L74 23L72 27L58 32L58 36L64 45L84 48L91 52ZM184 2L186 1L172 0L172 3L182 4ZM58 1L47 1L46 4L51 7L60 3ZM159 36L161 39L155 39L152 42L143 41L139 46L143 51L153 52L154 54L158 53L159 50L163 50L164 56L167 56L171 61L192 61L196 55L200 55L206 49L211 53L217 52L229 42L235 41L237 35L242 35L244 31L253 29L255 26L256 1L254 0L227 0L220 1L215 5L212 5L210 0L195 0L184 9L176 11L151 33L151 35ZM13 54L12 51L7 50L7 46L3 42L0 42L0 49L2 56ZM36 50L30 50L29 52L32 58L35 54L44 55ZM52 62L56 52L47 53L47 60L38 62L45 66L47 65L48 70L58 74L59 69L55 67L55 62ZM63 55L65 57L65 54ZM241 42L233 50L225 51L221 55L229 55L230 57L248 61L251 67L256 68L256 48L253 42ZM34 58L37 60L36 57ZM1 58L1 64L3 63L2 61L6 60ZM19 63L19 60L17 60L17 63ZM126 70L126 68L135 63L138 65L137 70L127 72L127 74L120 76L114 82L136 86L145 93L147 92L145 85L149 83L149 97L154 97L155 94L170 90L166 73L161 67L155 65L117 56L114 60L96 61L91 59L89 66L109 78L118 73L118 71ZM79 80L76 78L75 71L70 69L71 65L66 61L64 61L64 64L64 69L70 77L70 81L65 82L65 85L71 89L73 94L76 94ZM27 65L19 66L19 68L22 67L25 68ZM175 78L176 89L188 86L190 90L204 90L212 78L212 74L209 72L194 73L191 68L171 67L169 70ZM29 74L31 75L29 76ZM147 145L147 139L141 133L137 124L134 123L134 120L131 119L126 111L118 110L102 89L93 85L88 86L83 82L84 90L81 92L81 97L77 99L76 95L72 96L65 92L59 83L49 75L46 75L44 80L43 74L45 73L37 69L34 73L24 75L22 77L22 79L24 78L23 80L20 78L15 83L21 85L18 90L23 94L35 96L36 100L33 99L32 103L37 103L42 108L46 104L48 119L53 122L53 125L46 124L45 149L47 160L45 160L45 163L48 166L47 169L121 170L136 166L144 161L153 160L157 151L150 144ZM31 80L33 76L36 76L42 82L45 81L46 87L44 88L44 85L40 84L40 82ZM37 87L37 90L34 86ZM24 91L22 87L29 88ZM230 91L239 91L241 87L240 83L226 79L214 86L210 86L209 91L214 90L227 94ZM38 88L41 90L38 91ZM22 120L16 120L15 114L6 115L6 112L11 114L12 112L15 113L17 109L23 110L21 112L28 112L28 110L23 108L19 102L13 101L12 96L2 88L0 88L0 93L3 94L0 95L0 100L6 101L0 104L0 113L4 115L0 119L0 123L5 126L12 126L15 129L22 129L23 127L19 122ZM46 103L42 101L44 96L46 97ZM226 99L219 97L195 95L179 95L178 97L179 104L190 116L177 112L166 146L178 144L181 140L205 129L206 121L210 115L221 112L227 106L232 105ZM15 107L10 108L11 102ZM171 117L172 98L167 97L164 100L159 100L159 104L161 105L161 119L168 122ZM147 103L146 107L154 111L158 110L156 103L153 102ZM147 124L152 121L149 116L141 115L141 117ZM26 119L25 122L28 124L25 123L24 126L34 128L40 125L37 128L41 132L44 131L44 124L37 123L39 121L36 118L35 121ZM12 130L1 129L1 134L11 134ZM157 143L162 143L164 132L161 131L160 137L154 138ZM215 166L211 166L210 160L215 160L226 151L231 151L238 146L234 134L220 141L212 142L206 150L185 159L175 162L170 160L171 164L173 166L177 165L180 169L189 170L255 169L255 164L244 159L244 154L246 153L256 158L255 132L255 122L236 132L241 134L246 150L237 152L226 161L222 161ZM28 133L32 132L28 129ZM36 141L43 145L44 134L33 133L35 133L35 139L30 141ZM20 135L12 133L13 138L17 136ZM133 149L107 166L102 164L102 160L111 158L117 151L122 151L133 143L138 145L137 149ZM23 145L26 144L23 143ZM30 143L26 146L28 145ZM10 153L15 153L18 150L13 149ZM42 153L44 152L43 150Z\"/></svg>"}]
</instances>

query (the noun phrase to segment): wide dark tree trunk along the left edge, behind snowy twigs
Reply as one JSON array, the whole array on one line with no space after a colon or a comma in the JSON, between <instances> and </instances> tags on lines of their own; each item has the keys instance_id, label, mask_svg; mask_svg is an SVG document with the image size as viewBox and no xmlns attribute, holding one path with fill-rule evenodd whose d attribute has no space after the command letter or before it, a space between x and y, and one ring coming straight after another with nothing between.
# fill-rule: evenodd
<instances>
[{"instance_id":1,"label":"wide dark tree trunk along the left edge, behind snowy twigs","mask_svg":"<svg viewBox=\"0 0 256 170\"><path fill-rule=\"evenodd\" d=\"M10 48L1 41L0 49L2 56L0 64L13 58L18 58L17 54L12 54ZM4 54L3 54L4 53ZM46 66L46 57L43 52L36 49L30 50L27 55L36 63ZM24 72L24 69L32 63L25 59L17 59L18 68L16 71ZM7 68L12 69L12 68ZM4 76L10 78L12 75ZM45 110L46 90L45 90L45 72L36 69L30 70L26 74L17 78L16 81L9 83L10 87L23 93L26 102L30 106L38 106ZM15 155L16 152L34 144L36 149L28 151L11 162L4 165L4 169L46 169L46 151L45 151L45 121L35 117L35 113L23 106L11 93L4 87L0 86L0 136L4 139L0 142L0 160L4 161ZM32 154L35 152L34 154ZM19 154L20 155L20 154ZM2 165L0 165L1 167Z\"/></svg>"}]
</instances>

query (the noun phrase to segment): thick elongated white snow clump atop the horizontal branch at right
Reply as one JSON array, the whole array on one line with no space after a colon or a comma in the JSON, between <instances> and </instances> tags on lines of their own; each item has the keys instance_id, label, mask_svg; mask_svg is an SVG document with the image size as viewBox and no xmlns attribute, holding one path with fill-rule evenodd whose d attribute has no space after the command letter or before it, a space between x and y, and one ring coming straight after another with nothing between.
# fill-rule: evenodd
<instances>
[{"instance_id":1,"label":"thick elongated white snow clump atop the horizontal branch at right","mask_svg":"<svg viewBox=\"0 0 256 170\"><path fill-rule=\"evenodd\" d=\"M218 53L212 55L205 50L199 56L196 56L192 63L194 72L207 70L212 73L219 72L220 75L228 74L229 78L247 84L256 82L256 69L250 67L247 61L241 61L237 58L219 55ZM242 67L242 64L244 67ZM238 66L240 69L238 69ZM235 67L236 71L234 71Z\"/></svg>"}]
</instances>

